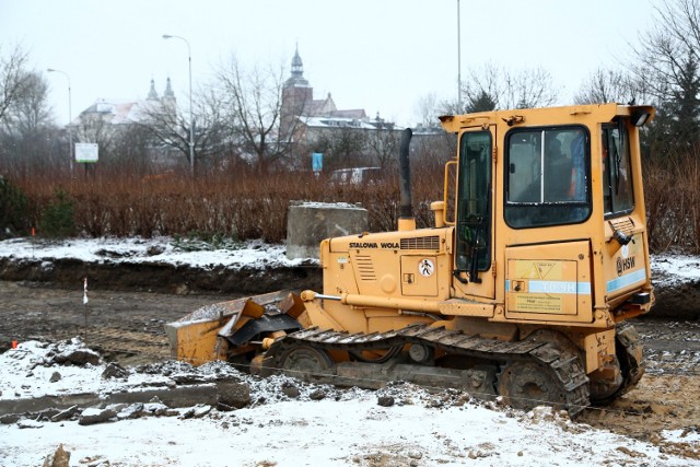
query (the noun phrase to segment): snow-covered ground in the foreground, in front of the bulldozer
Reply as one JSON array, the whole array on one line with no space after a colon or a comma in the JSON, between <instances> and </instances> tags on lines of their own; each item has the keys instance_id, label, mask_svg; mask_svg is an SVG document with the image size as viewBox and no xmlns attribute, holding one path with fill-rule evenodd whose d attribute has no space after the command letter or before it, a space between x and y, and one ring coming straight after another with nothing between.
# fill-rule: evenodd
<instances>
[{"instance_id":1,"label":"snow-covered ground in the foreground, in front of the bulldozer","mask_svg":"<svg viewBox=\"0 0 700 467\"><path fill-rule=\"evenodd\" d=\"M84 345L79 339L58 345L28 341L0 354L3 397L46 394L45 365L69 349ZM222 459L240 466L700 465L662 453L651 443L575 423L549 407L525 413L498 401L479 402L456 389L429 393L407 383L377 392L339 389L288 376L258 378L222 362L199 367L154 363L128 369L128 377L118 381L103 381L103 364L62 366L65 376L56 384L71 394L131 390L139 382L237 378L249 386L252 402L219 411L208 405L174 410L154 400L84 409L78 420L22 418L0 424L0 465L42 465L60 444L81 464L98 459L121 466L215 466ZM293 397L285 390L290 387L298 389ZM383 397L394 404L378 405ZM668 442L699 441L696 430L668 431L664 436Z\"/></svg>"}]
</instances>

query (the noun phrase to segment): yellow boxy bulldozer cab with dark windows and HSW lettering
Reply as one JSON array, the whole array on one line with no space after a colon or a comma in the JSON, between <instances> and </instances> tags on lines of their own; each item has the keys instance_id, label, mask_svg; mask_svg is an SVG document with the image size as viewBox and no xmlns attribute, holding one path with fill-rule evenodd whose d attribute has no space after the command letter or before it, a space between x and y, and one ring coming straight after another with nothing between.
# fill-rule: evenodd
<instances>
[{"instance_id":1,"label":"yellow boxy bulldozer cab with dark windows and HSW lettering","mask_svg":"<svg viewBox=\"0 0 700 467\"><path fill-rule=\"evenodd\" d=\"M607 104L443 117L458 136L444 200L453 296L493 305L492 319L600 327L611 307L649 303L632 295L651 291L638 129L652 115Z\"/></svg>"}]
</instances>

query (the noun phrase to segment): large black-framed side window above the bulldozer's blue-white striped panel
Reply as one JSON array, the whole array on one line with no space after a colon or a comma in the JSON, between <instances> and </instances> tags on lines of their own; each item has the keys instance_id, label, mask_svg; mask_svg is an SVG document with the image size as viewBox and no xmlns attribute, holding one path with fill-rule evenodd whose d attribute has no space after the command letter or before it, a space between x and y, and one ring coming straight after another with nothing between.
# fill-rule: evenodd
<instances>
[{"instance_id":1,"label":"large black-framed side window above the bulldozer's blue-white striped panel","mask_svg":"<svg viewBox=\"0 0 700 467\"><path fill-rule=\"evenodd\" d=\"M574 224L591 215L590 140L583 127L508 135L504 217L511 227Z\"/></svg>"}]
</instances>

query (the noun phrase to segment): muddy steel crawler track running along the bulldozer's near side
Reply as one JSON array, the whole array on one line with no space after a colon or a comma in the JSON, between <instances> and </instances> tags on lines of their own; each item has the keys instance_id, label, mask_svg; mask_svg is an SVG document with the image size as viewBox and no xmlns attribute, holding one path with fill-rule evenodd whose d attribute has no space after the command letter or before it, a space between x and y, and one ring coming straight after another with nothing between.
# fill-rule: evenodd
<instances>
[{"instance_id":1,"label":"muddy steel crawler track running along the bulldozer's near side","mask_svg":"<svg viewBox=\"0 0 700 467\"><path fill-rule=\"evenodd\" d=\"M499 341L429 325L412 325L399 330L373 334L348 334L308 328L276 341L266 352L266 365L272 369L282 367L280 359L284 352L300 345L326 351L358 353L366 350L400 348L406 345L421 345L442 350L447 354L498 362L500 365L514 361L535 361L556 376L563 393L562 405L570 415L575 415L590 405L588 377L579 355L556 342Z\"/></svg>"}]
</instances>

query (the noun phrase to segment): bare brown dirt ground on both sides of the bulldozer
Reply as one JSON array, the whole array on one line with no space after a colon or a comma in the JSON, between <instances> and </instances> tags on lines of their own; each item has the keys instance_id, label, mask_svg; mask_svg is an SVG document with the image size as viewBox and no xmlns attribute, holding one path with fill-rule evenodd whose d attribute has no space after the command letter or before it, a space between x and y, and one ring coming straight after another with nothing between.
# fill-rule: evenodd
<instances>
[{"instance_id":1,"label":"bare brown dirt ground on both sides of the bulldozer","mask_svg":"<svg viewBox=\"0 0 700 467\"><path fill-rule=\"evenodd\" d=\"M81 336L90 347L121 364L159 361L170 355L165 323L236 297L89 290L84 305L82 289L0 281L0 352L12 340L56 341ZM641 318L635 327L649 358L645 376L612 405L586 409L579 421L700 458L700 446L665 444L658 434L662 430L700 430L700 322Z\"/></svg>"}]
</instances>

